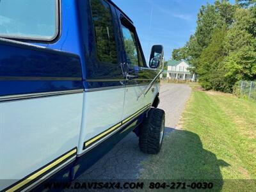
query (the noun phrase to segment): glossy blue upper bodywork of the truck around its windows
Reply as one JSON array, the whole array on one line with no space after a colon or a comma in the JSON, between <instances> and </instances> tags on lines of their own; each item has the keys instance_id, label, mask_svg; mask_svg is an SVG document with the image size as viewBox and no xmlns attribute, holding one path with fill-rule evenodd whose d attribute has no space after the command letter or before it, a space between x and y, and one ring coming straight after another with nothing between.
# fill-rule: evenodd
<instances>
[{"instance_id":1,"label":"glossy blue upper bodywork of the truck around its windows","mask_svg":"<svg viewBox=\"0 0 256 192\"><path fill-rule=\"evenodd\" d=\"M122 13L115 6L111 4L118 50L114 66L99 65L90 1L62 0L60 10L59 35L54 42L22 40L43 48L0 40L0 96L148 84L156 76L156 71L139 70L138 79L124 78L120 67L125 61L119 28Z\"/></svg>"}]
</instances>

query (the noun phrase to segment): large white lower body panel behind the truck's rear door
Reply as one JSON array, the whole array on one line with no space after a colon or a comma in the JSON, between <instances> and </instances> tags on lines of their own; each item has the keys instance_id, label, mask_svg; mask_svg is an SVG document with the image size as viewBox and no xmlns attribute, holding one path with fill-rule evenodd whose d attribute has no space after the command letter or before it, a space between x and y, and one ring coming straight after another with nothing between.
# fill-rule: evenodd
<instances>
[{"instance_id":1,"label":"large white lower body panel behind the truck's rear door","mask_svg":"<svg viewBox=\"0 0 256 192\"><path fill-rule=\"evenodd\" d=\"M1 103L0 180L22 179L77 147L82 108L83 93Z\"/></svg>"}]
</instances>

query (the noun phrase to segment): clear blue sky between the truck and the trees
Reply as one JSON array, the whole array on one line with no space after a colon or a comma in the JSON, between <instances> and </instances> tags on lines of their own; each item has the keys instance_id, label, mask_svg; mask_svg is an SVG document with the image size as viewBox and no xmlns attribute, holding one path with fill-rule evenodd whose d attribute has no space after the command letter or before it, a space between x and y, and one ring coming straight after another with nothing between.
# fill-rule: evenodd
<instances>
[{"instance_id":1,"label":"clear blue sky between the truck and the trees","mask_svg":"<svg viewBox=\"0 0 256 192\"><path fill-rule=\"evenodd\" d=\"M164 46L165 60L195 33L197 13L214 0L112 0L134 22L148 61L152 45ZM234 3L235 0L230 0Z\"/></svg>"}]
</instances>

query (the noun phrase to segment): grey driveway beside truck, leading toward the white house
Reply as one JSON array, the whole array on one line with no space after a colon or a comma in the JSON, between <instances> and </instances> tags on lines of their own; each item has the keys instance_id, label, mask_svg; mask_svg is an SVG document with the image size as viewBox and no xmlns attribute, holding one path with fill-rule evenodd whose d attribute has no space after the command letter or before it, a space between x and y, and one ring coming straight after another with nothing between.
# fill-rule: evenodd
<instances>
[{"instance_id":1,"label":"grey driveway beside truck, leading toward the white house","mask_svg":"<svg viewBox=\"0 0 256 192\"><path fill-rule=\"evenodd\" d=\"M190 94L191 88L187 84L161 84L159 108L166 113L165 136L175 129ZM140 163L148 157L140 152L138 138L131 132L79 180L138 179Z\"/></svg>"}]
</instances>

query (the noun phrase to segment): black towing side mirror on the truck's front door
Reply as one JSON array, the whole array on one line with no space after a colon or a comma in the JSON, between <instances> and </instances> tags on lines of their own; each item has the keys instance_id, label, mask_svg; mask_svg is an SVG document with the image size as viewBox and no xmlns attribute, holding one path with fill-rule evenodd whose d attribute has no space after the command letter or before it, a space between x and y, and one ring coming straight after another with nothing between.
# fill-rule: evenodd
<instances>
[{"instance_id":1,"label":"black towing side mirror on the truck's front door","mask_svg":"<svg viewBox=\"0 0 256 192\"><path fill-rule=\"evenodd\" d=\"M150 54L149 67L163 68L164 47L163 45L153 45Z\"/></svg>"}]
</instances>

